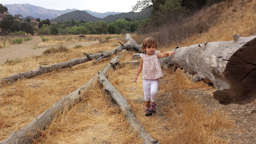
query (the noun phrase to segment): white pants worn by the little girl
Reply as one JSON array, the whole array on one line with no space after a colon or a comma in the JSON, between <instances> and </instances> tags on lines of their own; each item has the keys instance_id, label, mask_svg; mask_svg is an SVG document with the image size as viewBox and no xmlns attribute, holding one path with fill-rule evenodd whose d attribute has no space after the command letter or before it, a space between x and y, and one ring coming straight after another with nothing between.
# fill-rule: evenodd
<instances>
[{"instance_id":1,"label":"white pants worn by the little girl","mask_svg":"<svg viewBox=\"0 0 256 144\"><path fill-rule=\"evenodd\" d=\"M159 79L143 79L144 98L146 101L156 102Z\"/></svg>"}]
</instances>

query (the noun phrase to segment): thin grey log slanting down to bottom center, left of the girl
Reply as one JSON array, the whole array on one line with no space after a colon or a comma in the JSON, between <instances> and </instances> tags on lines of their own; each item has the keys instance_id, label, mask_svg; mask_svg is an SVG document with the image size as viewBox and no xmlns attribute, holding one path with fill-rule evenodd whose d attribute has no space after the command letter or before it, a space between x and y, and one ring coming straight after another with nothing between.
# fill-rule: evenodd
<instances>
[{"instance_id":1,"label":"thin grey log slanting down to bottom center, left of the girl","mask_svg":"<svg viewBox=\"0 0 256 144\"><path fill-rule=\"evenodd\" d=\"M111 61L111 63L116 63L116 60ZM109 63L109 65L111 65L111 63ZM102 70L102 72L99 72L99 81L100 84L104 86L104 90L108 92L109 95L111 95L112 99L115 100L119 108L124 111L125 118L128 120L132 129L138 131L138 135L140 136L140 138L142 138L144 143L160 143L158 140L154 140L154 138L152 138L150 134L145 131L145 128L137 119L136 114L132 111L131 106L128 104L126 99L122 97L122 95L108 81L108 79L106 78L106 70Z\"/></svg>"}]
</instances>

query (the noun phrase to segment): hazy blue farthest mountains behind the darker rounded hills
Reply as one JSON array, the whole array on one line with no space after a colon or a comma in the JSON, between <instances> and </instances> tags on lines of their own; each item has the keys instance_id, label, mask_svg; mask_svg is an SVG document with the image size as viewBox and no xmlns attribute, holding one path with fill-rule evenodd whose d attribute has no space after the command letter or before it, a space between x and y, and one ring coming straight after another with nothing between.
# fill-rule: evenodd
<instances>
[{"instance_id":1,"label":"hazy blue farthest mountains behind the darker rounded hills","mask_svg":"<svg viewBox=\"0 0 256 144\"><path fill-rule=\"evenodd\" d=\"M31 16L36 18L40 18L42 20L45 19L54 19L64 13L68 12L73 12L76 11L77 9L67 9L67 10L52 10L52 9L47 9L47 8L42 8L40 6L34 6L31 4L6 4L4 5L6 8L8 8L8 13L10 15L15 15L15 14L20 14L23 17ZM94 17L98 18L103 18L107 17L108 15L115 15L119 14L120 12L106 12L106 13L97 13L97 12L92 12L90 10L83 10L90 15L93 15Z\"/></svg>"}]
</instances>

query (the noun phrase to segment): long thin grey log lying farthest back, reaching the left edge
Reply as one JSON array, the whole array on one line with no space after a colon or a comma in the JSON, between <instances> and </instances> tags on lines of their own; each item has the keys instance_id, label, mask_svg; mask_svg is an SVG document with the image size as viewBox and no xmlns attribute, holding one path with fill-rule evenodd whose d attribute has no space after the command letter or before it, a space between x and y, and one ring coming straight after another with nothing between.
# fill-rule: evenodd
<instances>
[{"instance_id":1,"label":"long thin grey log lying farthest back, reaching the left edge","mask_svg":"<svg viewBox=\"0 0 256 144\"><path fill-rule=\"evenodd\" d=\"M1 83L12 83L13 81L17 81L18 79L22 79L22 78L30 78L30 77L35 77L35 76L40 76L42 74L45 73L49 73L52 72L54 70L58 70L60 68L71 68L74 65L78 65L81 63L85 63L87 61L91 61L91 60L97 60L100 57L110 57L120 51L122 51L124 48L123 45L119 45L118 47L116 47L115 49L111 50L111 51L107 51L107 52L100 52L97 54L86 54L86 56L84 56L83 58L76 58L74 60L70 60L70 61L65 61L65 62L61 62L61 63L55 63L52 65L48 65L45 67L39 67L36 70L30 70L27 72L22 72L19 74L13 74L12 76L8 76L8 77L3 77L0 79L0 84Z\"/></svg>"}]
</instances>

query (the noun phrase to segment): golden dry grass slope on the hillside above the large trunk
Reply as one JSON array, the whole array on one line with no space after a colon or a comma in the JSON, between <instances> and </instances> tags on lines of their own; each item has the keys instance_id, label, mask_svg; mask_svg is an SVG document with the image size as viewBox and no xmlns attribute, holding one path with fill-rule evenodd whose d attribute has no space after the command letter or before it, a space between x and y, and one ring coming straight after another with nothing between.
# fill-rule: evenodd
<instances>
[{"instance_id":1,"label":"golden dry grass slope on the hillside above the large trunk","mask_svg":"<svg viewBox=\"0 0 256 144\"><path fill-rule=\"evenodd\" d=\"M211 8L199 12L198 15L213 15L212 12L218 15L218 19L214 26L204 33L193 35L182 42L177 42L175 45L189 46L193 44L216 41L233 40L232 35L235 33L240 36L251 36L256 34L256 9L255 0L248 1L225 1L220 4L214 4ZM193 18L196 20L196 17Z\"/></svg>"}]
</instances>

